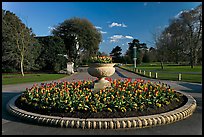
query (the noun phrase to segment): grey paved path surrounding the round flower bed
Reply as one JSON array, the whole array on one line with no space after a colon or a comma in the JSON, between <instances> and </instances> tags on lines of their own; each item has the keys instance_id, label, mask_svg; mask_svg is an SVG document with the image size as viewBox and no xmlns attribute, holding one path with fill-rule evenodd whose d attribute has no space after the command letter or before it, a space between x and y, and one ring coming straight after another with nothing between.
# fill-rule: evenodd
<instances>
[{"instance_id":1,"label":"grey paved path surrounding the round flower bed","mask_svg":"<svg viewBox=\"0 0 204 137\"><path fill-rule=\"evenodd\" d=\"M150 81L158 81L138 76L134 73L116 68L113 79L117 78L142 78ZM78 72L61 80L88 80L95 79L87 72ZM57 80L58 81L58 80ZM2 86L2 135L202 135L202 84L175 82L160 80L171 85L172 88L192 95L197 101L196 111L192 116L172 124L143 128L143 129L72 129L57 128L37 125L20 120L6 111L8 101L20 94L25 88L35 83L3 85ZM47 81L51 82L51 81ZM40 84L39 82L38 84Z\"/></svg>"}]
</instances>

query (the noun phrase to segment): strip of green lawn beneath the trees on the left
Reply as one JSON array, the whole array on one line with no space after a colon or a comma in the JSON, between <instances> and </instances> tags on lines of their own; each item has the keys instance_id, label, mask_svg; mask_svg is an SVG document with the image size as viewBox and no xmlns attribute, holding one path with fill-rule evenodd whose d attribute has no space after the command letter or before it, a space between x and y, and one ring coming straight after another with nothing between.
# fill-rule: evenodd
<instances>
[{"instance_id":1,"label":"strip of green lawn beneath the trees on the left","mask_svg":"<svg viewBox=\"0 0 204 137\"><path fill-rule=\"evenodd\" d=\"M2 74L2 85L49 81L60 79L65 76L68 75L40 73L40 74L25 74L25 76L23 77L21 74Z\"/></svg>"}]
</instances>

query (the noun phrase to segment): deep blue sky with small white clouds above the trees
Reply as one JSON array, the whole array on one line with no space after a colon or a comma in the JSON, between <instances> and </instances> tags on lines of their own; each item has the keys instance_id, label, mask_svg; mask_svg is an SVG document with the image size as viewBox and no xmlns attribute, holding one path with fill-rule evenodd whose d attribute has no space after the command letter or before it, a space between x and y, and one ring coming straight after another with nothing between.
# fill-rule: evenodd
<instances>
[{"instance_id":1,"label":"deep blue sky with small white clouds above the trees","mask_svg":"<svg viewBox=\"0 0 204 137\"><path fill-rule=\"evenodd\" d=\"M120 46L122 53L134 38L154 47L153 34L168 26L169 20L201 2L2 2L37 36L72 17L86 18L102 33L101 52L109 54Z\"/></svg>"}]
</instances>

